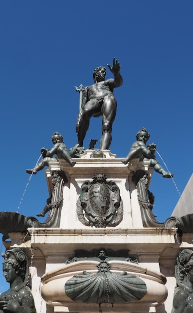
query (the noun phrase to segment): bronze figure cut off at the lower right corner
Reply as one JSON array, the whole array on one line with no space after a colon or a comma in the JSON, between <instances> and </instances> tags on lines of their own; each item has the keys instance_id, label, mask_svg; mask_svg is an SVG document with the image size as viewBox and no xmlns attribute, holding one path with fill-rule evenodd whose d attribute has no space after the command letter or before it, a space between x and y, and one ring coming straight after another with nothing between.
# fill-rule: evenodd
<instances>
[{"instance_id":1,"label":"bronze figure cut off at the lower right corner","mask_svg":"<svg viewBox=\"0 0 193 313\"><path fill-rule=\"evenodd\" d=\"M172 313L193 312L193 250L184 249L177 257L175 270L177 286Z\"/></svg>"}]
</instances>

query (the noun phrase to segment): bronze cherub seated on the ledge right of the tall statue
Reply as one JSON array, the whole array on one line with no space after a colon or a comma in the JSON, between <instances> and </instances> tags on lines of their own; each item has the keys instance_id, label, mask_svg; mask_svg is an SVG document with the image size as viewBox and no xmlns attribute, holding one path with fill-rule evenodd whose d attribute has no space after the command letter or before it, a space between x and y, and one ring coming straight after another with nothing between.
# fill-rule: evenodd
<instances>
[{"instance_id":1,"label":"bronze cherub seated on the ledge right of the tall statue","mask_svg":"<svg viewBox=\"0 0 193 313\"><path fill-rule=\"evenodd\" d=\"M156 144L153 142L152 144L148 144L146 147L146 142L150 138L150 134L146 128L140 129L136 134L136 139L127 154L126 158L122 160L124 164L127 164L134 158L139 158L140 161L150 161L150 167L154 167L155 171L162 174L163 177L172 178L174 174L167 172L156 159Z\"/></svg>"}]
</instances>

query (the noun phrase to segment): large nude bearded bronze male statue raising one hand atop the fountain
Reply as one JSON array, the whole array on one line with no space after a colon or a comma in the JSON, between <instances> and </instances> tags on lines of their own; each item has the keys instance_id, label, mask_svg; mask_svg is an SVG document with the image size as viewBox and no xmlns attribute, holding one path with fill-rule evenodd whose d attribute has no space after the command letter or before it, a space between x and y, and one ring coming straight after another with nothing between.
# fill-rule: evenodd
<instances>
[{"instance_id":1,"label":"large nude bearded bronze male statue raising one hand atop the fountain","mask_svg":"<svg viewBox=\"0 0 193 313\"><path fill-rule=\"evenodd\" d=\"M105 80L106 67L96 67L93 72L94 84L88 86L82 94L81 108L77 117L76 132L78 135L78 145L83 146L83 140L89 128L91 116L99 117L102 115L102 137L100 139L100 149L108 149L112 136L112 124L115 119L117 101L113 90L123 83L120 75L120 63L113 59L112 67L107 64L110 71L114 74L114 79Z\"/></svg>"}]
</instances>

